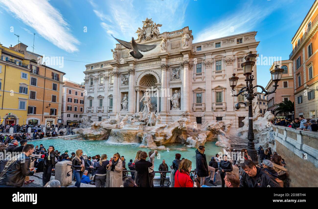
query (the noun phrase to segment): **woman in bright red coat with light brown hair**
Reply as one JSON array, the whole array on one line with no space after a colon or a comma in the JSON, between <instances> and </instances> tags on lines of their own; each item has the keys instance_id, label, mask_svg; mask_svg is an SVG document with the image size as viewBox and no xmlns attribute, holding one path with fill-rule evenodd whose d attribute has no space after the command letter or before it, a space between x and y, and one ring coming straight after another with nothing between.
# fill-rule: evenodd
<instances>
[{"instance_id":1,"label":"woman in bright red coat with light brown hair","mask_svg":"<svg viewBox=\"0 0 318 209\"><path fill-rule=\"evenodd\" d=\"M194 187L196 183L190 177L192 162L188 159L181 161L179 169L175 173L175 187Z\"/></svg>"}]
</instances>

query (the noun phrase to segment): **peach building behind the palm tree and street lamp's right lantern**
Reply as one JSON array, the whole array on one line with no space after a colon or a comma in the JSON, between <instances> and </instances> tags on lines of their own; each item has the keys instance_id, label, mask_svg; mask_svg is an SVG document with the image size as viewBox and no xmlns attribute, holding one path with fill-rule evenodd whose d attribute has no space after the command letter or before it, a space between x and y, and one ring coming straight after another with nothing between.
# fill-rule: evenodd
<instances>
[{"instance_id":1,"label":"peach building behind the palm tree and street lamp's right lantern","mask_svg":"<svg viewBox=\"0 0 318 209\"><path fill-rule=\"evenodd\" d=\"M267 96L266 100L268 102L267 110L271 111L274 115L275 109L277 108L277 104L283 101L292 101L294 102L294 78L293 78L293 71L292 71L292 61L291 60L282 60L280 62L274 62L270 67L270 71L275 69L275 66L279 65L281 69L284 69L283 75L281 80L278 82L278 87L276 89L276 93L270 94ZM273 91L274 82L271 79L268 84L266 85L267 91ZM291 113L289 116L286 115L288 118L292 118Z\"/></svg>"}]
</instances>

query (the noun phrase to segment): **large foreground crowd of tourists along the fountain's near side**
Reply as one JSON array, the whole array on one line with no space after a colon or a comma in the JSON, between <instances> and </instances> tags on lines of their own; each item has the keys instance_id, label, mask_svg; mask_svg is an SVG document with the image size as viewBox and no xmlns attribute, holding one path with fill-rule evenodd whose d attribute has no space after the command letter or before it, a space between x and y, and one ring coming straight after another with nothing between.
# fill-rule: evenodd
<instances>
[{"instance_id":1,"label":"large foreground crowd of tourists along the fountain's near side","mask_svg":"<svg viewBox=\"0 0 318 209\"><path fill-rule=\"evenodd\" d=\"M193 153L196 159L196 167L193 170L192 162L181 158L179 153L176 153L175 160L170 166L164 159L160 165L155 165L156 150L148 153L140 150L135 158L130 159L126 164L125 157L118 152L108 159L107 154L98 154L93 157L83 155L81 149L69 155L68 150L61 153L52 145L46 149L42 144L34 147L25 139L19 142L20 146L16 139L9 140L8 144L0 144L0 153L20 153L18 157L9 156L0 161L0 187L21 187L29 184L33 182L29 176L35 172L43 172L43 186L60 186L56 180L50 181L51 175L55 173L55 164L60 161L69 161L69 165L72 165L72 178L76 187L80 187L81 183L105 187L107 175L109 175L109 187L154 187L155 166L160 173L161 187L165 187L169 167L174 176L174 187L210 187L205 184L207 180L212 186L216 186L217 175L221 178L222 187L225 185L226 187L289 186L285 160L276 152L272 154L270 148L267 148L265 152L263 147L259 147L259 165L256 165L246 149L242 149L241 152L234 149L231 153L231 155L234 153L232 157L216 154L207 163L205 147L199 146ZM31 155L36 159L34 167L30 168ZM234 166L239 168L239 175L232 172Z\"/></svg>"}]
</instances>

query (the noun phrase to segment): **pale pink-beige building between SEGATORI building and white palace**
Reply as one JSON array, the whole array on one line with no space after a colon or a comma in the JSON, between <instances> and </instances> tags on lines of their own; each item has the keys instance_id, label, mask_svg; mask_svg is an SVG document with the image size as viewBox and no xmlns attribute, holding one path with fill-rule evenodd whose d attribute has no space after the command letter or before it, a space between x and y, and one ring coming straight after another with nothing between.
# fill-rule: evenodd
<instances>
[{"instance_id":1,"label":"pale pink-beige building between SEGATORI building and white palace","mask_svg":"<svg viewBox=\"0 0 318 209\"><path fill-rule=\"evenodd\" d=\"M83 85L73 81L63 81L62 124L76 126L84 112L85 90Z\"/></svg>"}]
</instances>

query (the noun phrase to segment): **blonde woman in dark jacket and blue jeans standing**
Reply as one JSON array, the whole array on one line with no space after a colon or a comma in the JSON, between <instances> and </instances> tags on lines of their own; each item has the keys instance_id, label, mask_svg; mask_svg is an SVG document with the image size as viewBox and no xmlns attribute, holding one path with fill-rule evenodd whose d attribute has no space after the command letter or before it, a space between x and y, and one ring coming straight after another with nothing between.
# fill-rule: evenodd
<instances>
[{"instance_id":1,"label":"blonde woman in dark jacket and blue jeans standing","mask_svg":"<svg viewBox=\"0 0 318 209\"><path fill-rule=\"evenodd\" d=\"M80 187L80 181L82 179L83 173L85 171L85 160L83 155L83 150L78 149L75 152L75 157L72 160L72 167L74 168L74 177L76 179L75 186ZM89 166L93 168L93 166Z\"/></svg>"}]
</instances>

